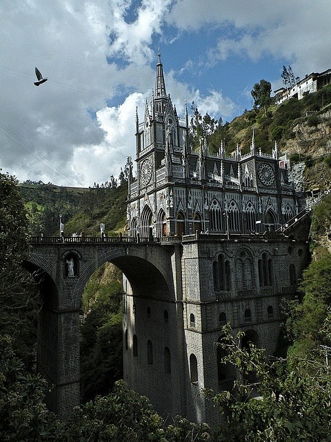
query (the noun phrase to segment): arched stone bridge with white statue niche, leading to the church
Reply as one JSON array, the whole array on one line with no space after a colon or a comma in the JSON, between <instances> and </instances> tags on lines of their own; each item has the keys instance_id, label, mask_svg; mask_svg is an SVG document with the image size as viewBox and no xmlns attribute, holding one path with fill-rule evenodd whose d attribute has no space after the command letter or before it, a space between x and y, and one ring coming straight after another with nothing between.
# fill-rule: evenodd
<instances>
[{"instance_id":1,"label":"arched stone bridge with white statue niche, leading to the church","mask_svg":"<svg viewBox=\"0 0 331 442\"><path fill-rule=\"evenodd\" d=\"M171 241L171 239L173 241ZM32 237L25 263L39 282L37 368L51 385L46 398L62 419L79 405L79 318L81 296L92 273L105 262L123 271L134 296L153 293L174 300L172 272L175 238ZM179 291L179 293L181 290Z\"/></svg>"}]
</instances>

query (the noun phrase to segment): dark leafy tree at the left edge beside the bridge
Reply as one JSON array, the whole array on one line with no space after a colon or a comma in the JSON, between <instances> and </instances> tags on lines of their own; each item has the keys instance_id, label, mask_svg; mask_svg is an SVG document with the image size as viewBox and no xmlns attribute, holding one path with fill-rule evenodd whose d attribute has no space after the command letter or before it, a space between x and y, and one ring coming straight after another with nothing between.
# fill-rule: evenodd
<instances>
[{"instance_id":1,"label":"dark leafy tree at the left edge beside the bridge","mask_svg":"<svg viewBox=\"0 0 331 442\"><path fill-rule=\"evenodd\" d=\"M15 338L19 356L32 357L33 318L38 292L30 273L23 269L29 251L27 217L17 180L0 173L0 334ZM20 338L19 338L20 337Z\"/></svg>"}]
</instances>

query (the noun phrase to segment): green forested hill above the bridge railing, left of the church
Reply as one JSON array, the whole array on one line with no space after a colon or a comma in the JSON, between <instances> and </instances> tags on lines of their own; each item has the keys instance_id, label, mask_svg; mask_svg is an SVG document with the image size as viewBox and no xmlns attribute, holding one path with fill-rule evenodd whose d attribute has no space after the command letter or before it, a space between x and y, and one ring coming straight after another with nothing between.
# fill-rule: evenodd
<instances>
[{"instance_id":1,"label":"green forested hill above the bridge railing, left of the church","mask_svg":"<svg viewBox=\"0 0 331 442\"><path fill-rule=\"evenodd\" d=\"M65 236L83 232L99 236L101 222L108 236L123 231L126 222L128 183L119 186L95 184L94 187L55 186L53 184L20 184L29 217L29 233L44 236L59 235L59 215L62 215Z\"/></svg>"}]
</instances>

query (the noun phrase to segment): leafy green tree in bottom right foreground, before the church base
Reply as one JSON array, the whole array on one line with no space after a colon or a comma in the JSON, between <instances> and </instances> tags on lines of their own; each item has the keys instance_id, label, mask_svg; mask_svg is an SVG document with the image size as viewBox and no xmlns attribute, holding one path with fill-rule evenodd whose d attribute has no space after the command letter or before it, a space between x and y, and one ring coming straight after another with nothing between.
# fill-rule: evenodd
<instances>
[{"instance_id":1,"label":"leafy green tree in bottom right foreground, before the church base","mask_svg":"<svg viewBox=\"0 0 331 442\"><path fill-rule=\"evenodd\" d=\"M232 390L214 395L227 424L219 440L331 441L329 367L313 359L266 357L252 344L241 347L243 332L233 336L230 325L223 332L217 344L225 351L222 362L232 364L239 376ZM256 381L248 381L249 374Z\"/></svg>"}]
</instances>

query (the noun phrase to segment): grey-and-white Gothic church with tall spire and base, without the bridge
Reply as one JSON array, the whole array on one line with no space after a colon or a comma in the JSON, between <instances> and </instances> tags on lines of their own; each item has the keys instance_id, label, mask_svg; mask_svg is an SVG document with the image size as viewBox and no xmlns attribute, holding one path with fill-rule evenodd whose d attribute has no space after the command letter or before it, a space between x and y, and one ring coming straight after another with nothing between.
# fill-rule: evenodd
<instances>
[{"instance_id":1,"label":"grey-and-white Gothic church with tall spire and base, without the bridge","mask_svg":"<svg viewBox=\"0 0 331 442\"><path fill-rule=\"evenodd\" d=\"M274 353L281 298L296 292L307 260L308 212L277 146L263 154L253 134L245 156L237 148L228 157L223 146L210 155L204 142L192 151L187 111L179 119L165 93L160 56L154 95L136 124L130 236L174 247L173 279L161 295L137 296L124 278L124 377L161 414L215 423L203 389L217 392L235 376L219 363L222 327L230 322Z\"/></svg>"}]
</instances>

